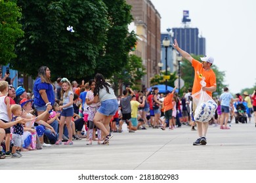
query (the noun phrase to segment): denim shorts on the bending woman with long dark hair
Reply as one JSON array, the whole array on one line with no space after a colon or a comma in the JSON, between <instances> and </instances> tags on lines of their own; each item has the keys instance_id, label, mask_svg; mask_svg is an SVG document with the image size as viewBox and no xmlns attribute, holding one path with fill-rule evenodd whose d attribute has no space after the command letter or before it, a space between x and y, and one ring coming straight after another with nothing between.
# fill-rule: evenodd
<instances>
[{"instance_id":1,"label":"denim shorts on the bending woman with long dark hair","mask_svg":"<svg viewBox=\"0 0 256 183\"><path fill-rule=\"evenodd\" d=\"M114 116L117 109L117 99L109 99L106 101L102 101L100 108L98 108L98 112L100 112L100 114L104 114L105 116Z\"/></svg>"}]
</instances>

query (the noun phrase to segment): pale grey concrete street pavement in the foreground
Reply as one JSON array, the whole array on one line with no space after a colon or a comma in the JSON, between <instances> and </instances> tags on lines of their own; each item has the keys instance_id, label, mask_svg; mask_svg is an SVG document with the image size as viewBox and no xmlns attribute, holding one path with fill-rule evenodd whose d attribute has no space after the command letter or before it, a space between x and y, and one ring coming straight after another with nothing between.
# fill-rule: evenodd
<instances>
[{"instance_id":1,"label":"pale grey concrete street pavement in the foreground","mask_svg":"<svg viewBox=\"0 0 256 183\"><path fill-rule=\"evenodd\" d=\"M22 152L22 158L0 160L10 170L255 170L256 127L234 124L231 129L209 126L206 146L193 146L197 131L182 125L174 130L148 128L135 133L113 133L109 146L53 145Z\"/></svg>"}]
</instances>

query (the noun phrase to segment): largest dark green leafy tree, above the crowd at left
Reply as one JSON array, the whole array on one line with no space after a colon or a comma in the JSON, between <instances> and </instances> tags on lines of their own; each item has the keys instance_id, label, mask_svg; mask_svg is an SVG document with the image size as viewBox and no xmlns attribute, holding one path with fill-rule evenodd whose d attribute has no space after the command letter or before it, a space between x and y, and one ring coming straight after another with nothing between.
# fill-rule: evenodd
<instances>
[{"instance_id":1,"label":"largest dark green leafy tree, above the crowd at left","mask_svg":"<svg viewBox=\"0 0 256 183\"><path fill-rule=\"evenodd\" d=\"M11 61L14 69L33 77L41 65L51 69L53 78L95 74L109 27L102 0L18 0L18 6L22 7L25 36L16 44L18 58ZM74 32L66 29L68 25Z\"/></svg>"}]
</instances>

